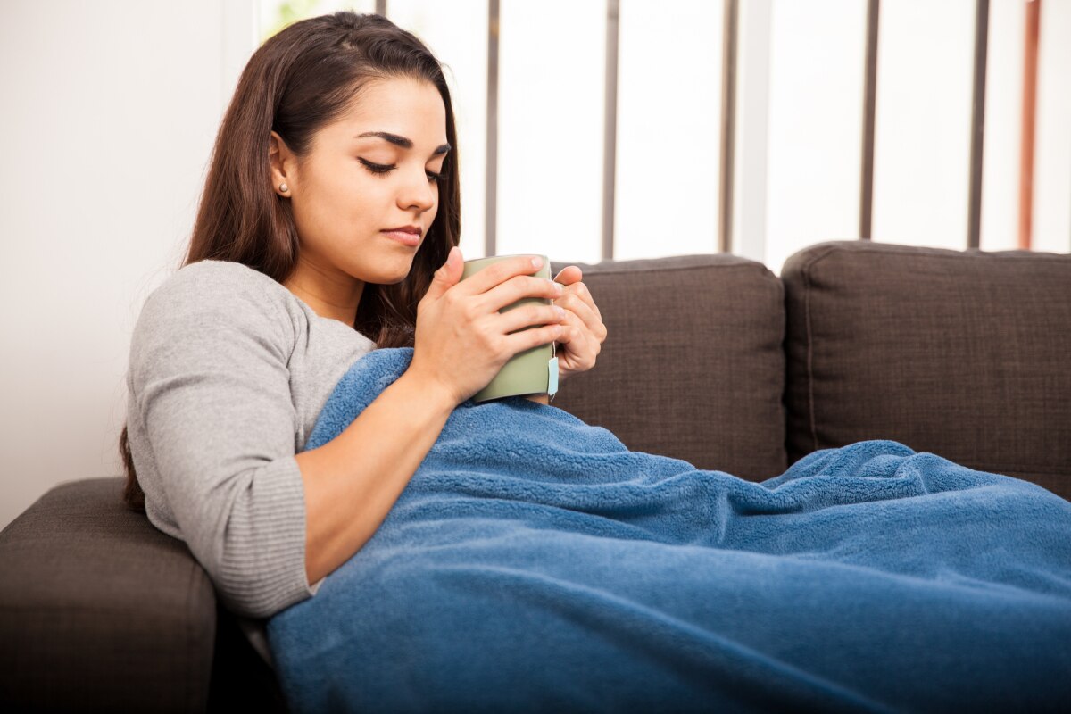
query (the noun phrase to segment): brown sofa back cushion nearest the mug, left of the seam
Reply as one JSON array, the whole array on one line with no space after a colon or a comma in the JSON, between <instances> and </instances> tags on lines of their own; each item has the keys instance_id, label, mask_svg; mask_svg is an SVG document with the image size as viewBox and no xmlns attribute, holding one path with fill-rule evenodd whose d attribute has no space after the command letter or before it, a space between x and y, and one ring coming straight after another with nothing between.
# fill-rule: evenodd
<instances>
[{"instance_id":1,"label":"brown sofa back cushion nearest the mug, left of the seam","mask_svg":"<svg viewBox=\"0 0 1071 714\"><path fill-rule=\"evenodd\" d=\"M552 402L629 449L753 481L782 473L784 292L727 254L575 264L602 313L595 367Z\"/></svg>"}]
</instances>

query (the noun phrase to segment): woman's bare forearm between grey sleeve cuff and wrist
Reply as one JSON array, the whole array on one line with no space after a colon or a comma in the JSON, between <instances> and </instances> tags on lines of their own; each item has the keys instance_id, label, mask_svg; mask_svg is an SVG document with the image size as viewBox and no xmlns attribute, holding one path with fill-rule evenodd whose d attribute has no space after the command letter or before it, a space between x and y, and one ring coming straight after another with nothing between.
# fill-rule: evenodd
<instances>
[{"instance_id":1,"label":"woman's bare forearm between grey sleeve cuff and wrist","mask_svg":"<svg viewBox=\"0 0 1071 714\"><path fill-rule=\"evenodd\" d=\"M305 490L305 573L316 582L373 536L455 404L403 374L332 441L295 458Z\"/></svg>"}]
</instances>

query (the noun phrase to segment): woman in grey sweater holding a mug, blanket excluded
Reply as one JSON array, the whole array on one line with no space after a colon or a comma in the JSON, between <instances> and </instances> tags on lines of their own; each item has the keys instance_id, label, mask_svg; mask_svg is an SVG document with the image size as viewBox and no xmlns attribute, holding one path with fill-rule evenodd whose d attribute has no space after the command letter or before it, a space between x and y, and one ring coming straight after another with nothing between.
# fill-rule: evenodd
<instances>
[{"instance_id":1,"label":"woman in grey sweater holding a mug, blanket excluded","mask_svg":"<svg viewBox=\"0 0 1071 714\"><path fill-rule=\"evenodd\" d=\"M120 440L125 500L239 614L314 594L513 354L557 340L559 380L594 365L606 330L578 268L545 280L517 257L459 282L457 179L439 63L380 16L297 22L242 73L184 267L133 335ZM497 312L521 298L554 305ZM403 378L297 453L347 367L399 346Z\"/></svg>"}]
</instances>

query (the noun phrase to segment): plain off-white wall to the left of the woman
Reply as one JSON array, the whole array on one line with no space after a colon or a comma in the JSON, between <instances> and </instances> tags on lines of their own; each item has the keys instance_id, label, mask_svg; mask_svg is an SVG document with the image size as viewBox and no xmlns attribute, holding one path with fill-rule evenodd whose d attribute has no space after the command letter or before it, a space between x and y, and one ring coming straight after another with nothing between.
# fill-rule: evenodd
<instances>
[{"instance_id":1,"label":"plain off-white wall to the left of the woman","mask_svg":"<svg viewBox=\"0 0 1071 714\"><path fill-rule=\"evenodd\" d=\"M182 258L252 13L4 2L0 527L59 482L120 473L131 331Z\"/></svg>"}]
</instances>

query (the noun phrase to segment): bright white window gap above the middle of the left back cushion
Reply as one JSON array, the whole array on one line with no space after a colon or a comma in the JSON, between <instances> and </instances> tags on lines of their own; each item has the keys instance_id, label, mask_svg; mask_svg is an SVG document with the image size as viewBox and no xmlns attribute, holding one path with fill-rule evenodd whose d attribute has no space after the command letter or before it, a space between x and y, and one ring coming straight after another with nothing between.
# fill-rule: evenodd
<instances>
[{"instance_id":1,"label":"bright white window gap above the middle of the left back cushion","mask_svg":"<svg viewBox=\"0 0 1071 714\"><path fill-rule=\"evenodd\" d=\"M673 12L661 2L621 0L620 6L614 257L714 253L722 2L677 0ZM602 88L594 96L601 120ZM592 137L598 162L601 137L600 127ZM601 208L601 186L588 200Z\"/></svg>"}]
</instances>

